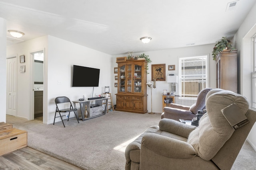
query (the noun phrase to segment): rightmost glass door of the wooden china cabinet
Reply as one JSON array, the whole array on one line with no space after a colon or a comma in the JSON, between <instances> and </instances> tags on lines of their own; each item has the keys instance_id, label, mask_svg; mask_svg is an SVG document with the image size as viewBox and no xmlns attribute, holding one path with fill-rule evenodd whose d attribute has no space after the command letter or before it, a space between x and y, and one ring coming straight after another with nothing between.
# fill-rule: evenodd
<instances>
[{"instance_id":1,"label":"rightmost glass door of the wooden china cabinet","mask_svg":"<svg viewBox=\"0 0 256 170\"><path fill-rule=\"evenodd\" d=\"M134 64L134 93L141 93L142 90L142 64Z\"/></svg>"}]
</instances>

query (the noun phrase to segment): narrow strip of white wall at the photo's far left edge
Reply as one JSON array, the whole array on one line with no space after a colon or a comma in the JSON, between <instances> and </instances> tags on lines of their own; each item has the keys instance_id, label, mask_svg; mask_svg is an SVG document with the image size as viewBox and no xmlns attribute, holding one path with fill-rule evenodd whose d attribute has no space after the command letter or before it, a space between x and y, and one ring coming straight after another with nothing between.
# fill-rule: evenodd
<instances>
[{"instance_id":1,"label":"narrow strip of white wall at the photo's far left edge","mask_svg":"<svg viewBox=\"0 0 256 170\"><path fill-rule=\"evenodd\" d=\"M0 122L6 122L6 20L0 18Z\"/></svg>"}]
</instances>

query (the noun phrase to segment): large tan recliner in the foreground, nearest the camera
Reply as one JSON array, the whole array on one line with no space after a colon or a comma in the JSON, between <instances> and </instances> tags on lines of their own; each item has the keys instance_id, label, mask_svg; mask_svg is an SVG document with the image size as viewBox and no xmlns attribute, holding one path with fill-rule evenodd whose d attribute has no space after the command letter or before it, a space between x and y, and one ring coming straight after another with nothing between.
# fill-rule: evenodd
<instances>
[{"instance_id":1,"label":"large tan recliner in the foreground, nearest the camera","mask_svg":"<svg viewBox=\"0 0 256 170\"><path fill-rule=\"evenodd\" d=\"M234 130L221 109L235 103L250 123ZM198 127L162 119L126 147L126 170L230 170L256 121L244 96L213 89Z\"/></svg>"}]
</instances>

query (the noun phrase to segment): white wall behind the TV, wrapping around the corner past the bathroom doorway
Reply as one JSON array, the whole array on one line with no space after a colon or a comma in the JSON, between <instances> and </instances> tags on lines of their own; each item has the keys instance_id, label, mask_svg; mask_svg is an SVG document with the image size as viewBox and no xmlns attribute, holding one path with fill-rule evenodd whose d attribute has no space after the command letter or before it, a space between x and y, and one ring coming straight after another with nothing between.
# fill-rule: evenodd
<instances>
[{"instance_id":1,"label":"white wall behind the TV, wrapping around the corner past the bathroom doorway","mask_svg":"<svg viewBox=\"0 0 256 170\"><path fill-rule=\"evenodd\" d=\"M44 123L46 124L53 123L56 108L54 99L57 96L67 96L73 101L82 98L83 94L87 94L87 96L92 94L92 87L71 87L73 64L100 68L99 87L94 88L94 94L102 94L104 92L104 87L110 86L110 79L112 76L112 74L110 74L111 56L105 53L52 36L39 37L23 43L10 45L7 46L6 49L7 56L14 54L17 54L17 56L25 55L25 63L18 62L18 70L21 65L26 65L26 72L18 72L17 75L18 117L24 117L30 120L34 114L34 111L32 110L32 98L34 97L32 78L33 58L30 53L35 51L44 50L45 55ZM4 66L6 67L6 55L4 59ZM60 81L61 84L57 84L57 81ZM60 121L60 119L56 119L56 121Z\"/></svg>"}]
</instances>

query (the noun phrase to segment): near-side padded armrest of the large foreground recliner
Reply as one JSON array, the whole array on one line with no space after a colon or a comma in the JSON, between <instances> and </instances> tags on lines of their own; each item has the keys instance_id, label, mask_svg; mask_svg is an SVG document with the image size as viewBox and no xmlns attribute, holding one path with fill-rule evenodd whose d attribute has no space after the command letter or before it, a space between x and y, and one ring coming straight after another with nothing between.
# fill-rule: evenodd
<instances>
[{"instance_id":1,"label":"near-side padded armrest of the large foreground recliner","mask_svg":"<svg viewBox=\"0 0 256 170\"><path fill-rule=\"evenodd\" d=\"M142 138L141 152L144 149L152 150L168 158L192 158L197 155L192 145L154 133L147 134Z\"/></svg>"}]
</instances>

